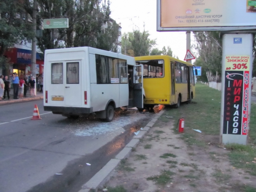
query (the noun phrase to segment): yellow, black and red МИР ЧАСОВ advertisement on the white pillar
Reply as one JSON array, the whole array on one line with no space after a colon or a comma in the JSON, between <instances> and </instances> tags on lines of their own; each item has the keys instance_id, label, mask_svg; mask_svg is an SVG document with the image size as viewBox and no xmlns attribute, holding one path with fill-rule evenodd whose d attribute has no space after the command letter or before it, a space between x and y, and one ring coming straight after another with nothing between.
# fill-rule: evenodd
<instances>
[{"instance_id":1,"label":"yellow, black and red \u041c\u0418\u0420 \u0427\u0410\u0421\u041e\u0412 advertisement on the white pillar","mask_svg":"<svg viewBox=\"0 0 256 192\"><path fill-rule=\"evenodd\" d=\"M234 39L234 41L240 41ZM225 56L223 134L247 135L250 56Z\"/></svg>"}]
</instances>

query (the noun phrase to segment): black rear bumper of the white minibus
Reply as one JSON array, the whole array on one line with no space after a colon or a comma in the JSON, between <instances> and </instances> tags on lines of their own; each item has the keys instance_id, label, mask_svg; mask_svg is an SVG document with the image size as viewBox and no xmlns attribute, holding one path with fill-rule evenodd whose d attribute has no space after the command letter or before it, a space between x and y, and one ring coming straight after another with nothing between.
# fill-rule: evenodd
<instances>
[{"instance_id":1,"label":"black rear bumper of the white minibus","mask_svg":"<svg viewBox=\"0 0 256 192\"><path fill-rule=\"evenodd\" d=\"M56 106L43 106L45 111L52 111L56 114L67 114L67 113L80 113L88 114L93 113L93 107L56 107Z\"/></svg>"}]
</instances>

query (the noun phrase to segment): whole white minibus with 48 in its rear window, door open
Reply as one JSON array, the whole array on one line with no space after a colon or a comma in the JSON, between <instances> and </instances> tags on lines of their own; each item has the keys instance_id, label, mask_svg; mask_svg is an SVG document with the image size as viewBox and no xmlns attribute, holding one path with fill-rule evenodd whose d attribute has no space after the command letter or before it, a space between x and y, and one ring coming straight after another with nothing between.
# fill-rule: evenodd
<instances>
[{"instance_id":1,"label":"whole white minibus with 48 in its rear window, door open","mask_svg":"<svg viewBox=\"0 0 256 192\"><path fill-rule=\"evenodd\" d=\"M44 110L112 121L118 107L143 108L142 65L126 55L75 47L45 50Z\"/></svg>"}]
</instances>

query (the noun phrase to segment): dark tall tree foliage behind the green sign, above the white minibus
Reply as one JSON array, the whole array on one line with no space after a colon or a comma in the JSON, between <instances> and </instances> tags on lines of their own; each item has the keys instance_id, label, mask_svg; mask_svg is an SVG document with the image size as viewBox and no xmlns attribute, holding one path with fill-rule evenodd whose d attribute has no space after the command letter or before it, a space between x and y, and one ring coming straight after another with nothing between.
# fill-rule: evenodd
<instances>
[{"instance_id":1,"label":"dark tall tree foliage behind the green sign, above the white minibus","mask_svg":"<svg viewBox=\"0 0 256 192\"><path fill-rule=\"evenodd\" d=\"M110 19L109 0L38 0L38 26L43 19L68 18L68 28L44 29L41 51L90 46L116 52L118 24Z\"/></svg>"}]
</instances>

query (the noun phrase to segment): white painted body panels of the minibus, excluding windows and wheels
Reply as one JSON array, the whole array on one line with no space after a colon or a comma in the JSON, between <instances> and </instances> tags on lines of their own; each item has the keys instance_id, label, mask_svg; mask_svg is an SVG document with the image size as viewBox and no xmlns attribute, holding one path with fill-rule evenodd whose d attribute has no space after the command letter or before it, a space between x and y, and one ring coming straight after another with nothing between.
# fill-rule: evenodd
<instances>
[{"instance_id":1,"label":"white painted body panels of the minibus, excluding windows and wheels","mask_svg":"<svg viewBox=\"0 0 256 192\"><path fill-rule=\"evenodd\" d=\"M45 110L49 110L50 107L60 107L64 111L60 111L58 114L63 114L66 113L65 109L73 107L74 111L72 113L76 113L75 111L78 108L78 113L92 113L106 110L110 100L115 102L115 107L128 106L128 83L97 84L95 54L125 59L127 60L127 65L135 65L133 57L91 47L46 50L43 91L44 96L45 91L47 91L48 102L44 99ZM69 62L79 62L79 84L66 83L66 63ZM63 63L63 84L51 83L51 63ZM84 102L85 91L87 91L87 104ZM52 97L63 97L64 100L53 101ZM87 108L87 110L81 108Z\"/></svg>"}]
</instances>

